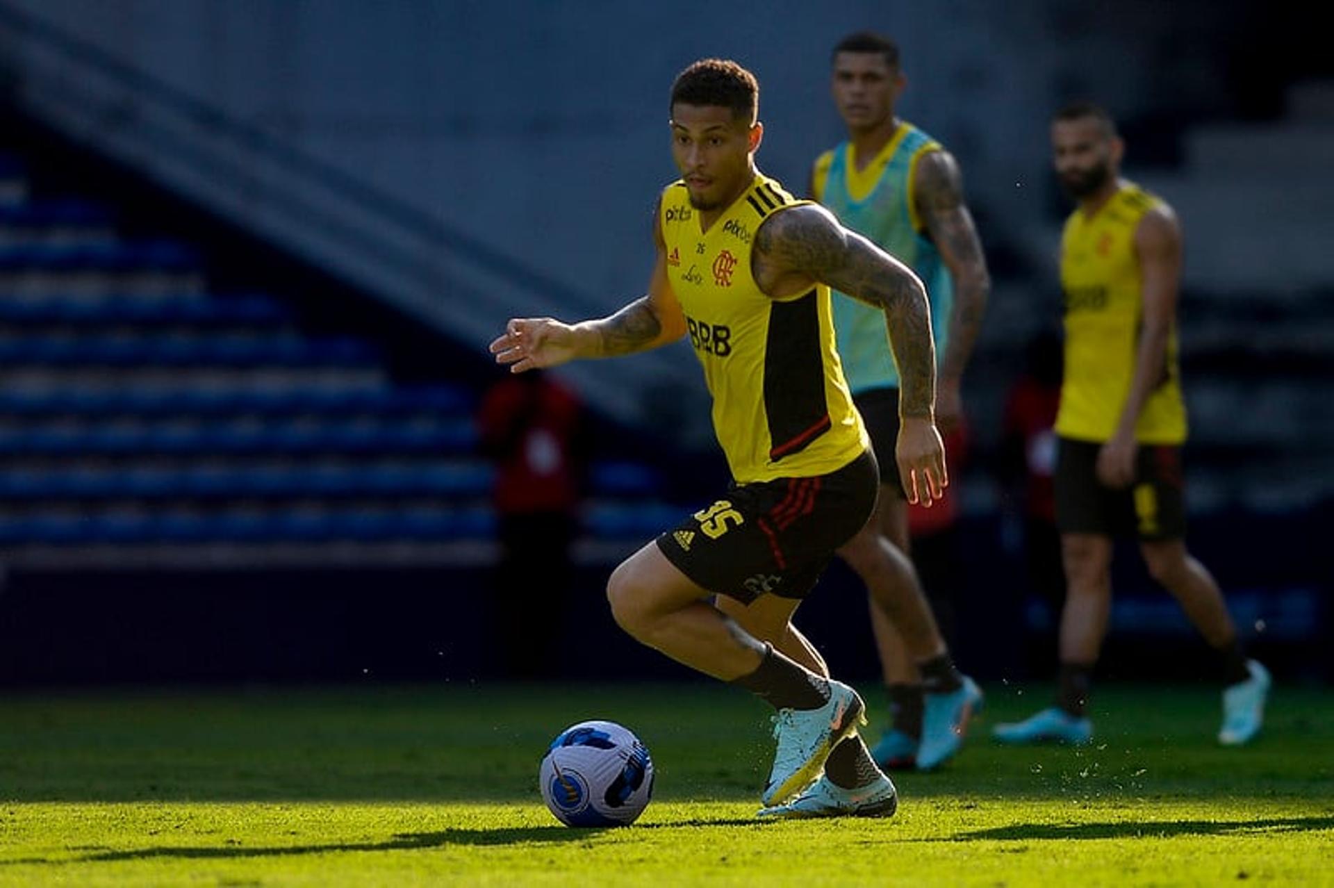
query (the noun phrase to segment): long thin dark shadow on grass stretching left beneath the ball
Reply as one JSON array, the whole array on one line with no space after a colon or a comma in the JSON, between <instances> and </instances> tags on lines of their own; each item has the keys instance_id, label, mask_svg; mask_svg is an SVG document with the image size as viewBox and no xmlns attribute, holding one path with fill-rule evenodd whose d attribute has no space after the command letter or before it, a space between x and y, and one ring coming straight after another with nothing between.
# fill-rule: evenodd
<instances>
[{"instance_id":1,"label":"long thin dark shadow on grass stretching left beneath the ball","mask_svg":"<svg viewBox=\"0 0 1334 888\"><path fill-rule=\"evenodd\" d=\"M670 827L736 827L754 825L755 820L720 819L720 820L687 820L678 823L642 824L636 829L663 829ZM519 827L511 829L440 829L436 832L407 832L394 836L388 841L366 843L334 843L323 845L281 845L281 847L255 847L247 848L240 844L213 847L213 848L137 848L132 851L100 851L97 853L83 855L63 860L48 857L24 857L19 860L0 861L0 867L16 867L21 864L72 864L72 863L120 863L127 860L231 860L247 857L297 857L301 855L347 853L347 852L376 852L376 851L422 851L426 848L443 848L446 845L512 845L512 844L556 844L570 841L587 841L594 836L608 832L607 828L570 827Z\"/></svg>"}]
</instances>

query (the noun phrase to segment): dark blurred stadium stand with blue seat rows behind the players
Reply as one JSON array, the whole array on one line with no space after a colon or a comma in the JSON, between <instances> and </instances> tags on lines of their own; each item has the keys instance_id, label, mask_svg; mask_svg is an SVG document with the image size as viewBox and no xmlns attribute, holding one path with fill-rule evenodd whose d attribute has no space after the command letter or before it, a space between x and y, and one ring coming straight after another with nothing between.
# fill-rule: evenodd
<instances>
[{"instance_id":1,"label":"dark blurred stadium stand with blue seat rows behind the players","mask_svg":"<svg viewBox=\"0 0 1334 888\"><path fill-rule=\"evenodd\" d=\"M958 156L995 279L960 664L1051 668L995 479L1006 392L1058 319L1046 120L1093 97L1185 224L1191 548L1281 679L1334 676L1334 61L1297 4L0 0L0 685L498 675L486 343L640 292L696 57L756 72L759 163L800 188L858 28L900 40L900 111ZM692 357L563 379L598 444L550 676L686 677L602 589L724 480ZM866 679L863 615L836 564L800 612ZM1118 561L1103 671L1187 677L1203 652Z\"/></svg>"}]
</instances>

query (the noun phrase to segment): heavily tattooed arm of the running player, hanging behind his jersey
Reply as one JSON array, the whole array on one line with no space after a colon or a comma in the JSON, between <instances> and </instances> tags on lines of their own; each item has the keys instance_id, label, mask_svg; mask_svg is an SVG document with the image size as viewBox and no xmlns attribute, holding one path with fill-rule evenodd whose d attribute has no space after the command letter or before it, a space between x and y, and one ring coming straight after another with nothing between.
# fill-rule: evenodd
<instances>
[{"instance_id":1,"label":"heavily tattooed arm of the running player, hanging behind his jersey","mask_svg":"<svg viewBox=\"0 0 1334 888\"><path fill-rule=\"evenodd\" d=\"M940 499L948 479L935 429L935 345L918 276L814 204L770 215L755 232L751 263L755 281L775 299L820 281L884 311L900 377L899 477L910 503L931 505Z\"/></svg>"}]
</instances>

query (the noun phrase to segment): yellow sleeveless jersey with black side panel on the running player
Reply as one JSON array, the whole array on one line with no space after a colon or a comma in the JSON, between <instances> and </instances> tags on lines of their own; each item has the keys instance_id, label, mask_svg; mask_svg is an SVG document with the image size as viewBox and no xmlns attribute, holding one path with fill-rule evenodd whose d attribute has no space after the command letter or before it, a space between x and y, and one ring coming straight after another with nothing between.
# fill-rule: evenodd
<instances>
[{"instance_id":1,"label":"yellow sleeveless jersey with black side panel on the running player","mask_svg":"<svg viewBox=\"0 0 1334 888\"><path fill-rule=\"evenodd\" d=\"M707 232L682 181L663 189L658 209L667 277L740 484L827 475L870 447L834 349L828 287L776 300L751 275L764 219L806 203L756 175Z\"/></svg>"}]
</instances>

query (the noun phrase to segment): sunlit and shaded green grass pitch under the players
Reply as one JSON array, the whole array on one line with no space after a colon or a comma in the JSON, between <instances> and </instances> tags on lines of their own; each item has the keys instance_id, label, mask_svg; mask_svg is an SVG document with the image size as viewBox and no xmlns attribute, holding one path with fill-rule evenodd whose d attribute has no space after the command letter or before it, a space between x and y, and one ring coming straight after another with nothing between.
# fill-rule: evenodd
<instances>
[{"instance_id":1,"label":"sunlit and shaded green grass pitch under the players","mask_svg":"<svg viewBox=\"0 0 1334 888\"><path fill-rule=\"evenodd\" d=\"M1214 744L1205 687L1103 688L1091 747L999 748L1050 691L987 691L896 817L776 824L764 707L704 683L0 696L0 885L1334 884L1326 691L1278 688L1247 749ZM538 795L588 717L652 753L634 827Z\"/></svg>"}]
</instances>

